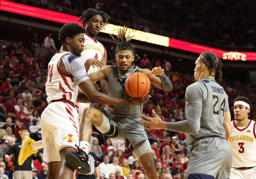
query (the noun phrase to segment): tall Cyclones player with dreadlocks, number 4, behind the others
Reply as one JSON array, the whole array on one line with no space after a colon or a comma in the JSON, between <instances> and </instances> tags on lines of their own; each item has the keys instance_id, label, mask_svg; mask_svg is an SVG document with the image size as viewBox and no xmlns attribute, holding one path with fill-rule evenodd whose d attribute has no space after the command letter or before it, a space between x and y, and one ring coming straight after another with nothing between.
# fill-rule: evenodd
<instances>
[{"instance_id":1,"label":"tall Cyclones player with dreadlocks, number 4, behind the others","mask_svg":"<svg viewBox=\"0 0 256 179\"><path fill-rule=\"evenodd\" d=\"M104 28L108 24L108 19L110 18L108 14L100 11L97 3L95 9L87 9L84 11L83 15L78 21L82 22L85 28L84 33L84 51L81 53L81 60L83 63L87 61L88 65L85 66L87 74L96 72L100 67L106 66L107 64L107 52L105 47L96 40L96 36L100 32L101 28ZM99 60L104 63L102 66L93 65L92 61ZM100 89L99 86L94 83L96 89ZM105 80L100 80L101 89L105 94L107 94L107 83ZM76 108L79 111L79 118L82 120L84 109L89 108L90 103L77 103Z\"/></svg>"}]
</instances>

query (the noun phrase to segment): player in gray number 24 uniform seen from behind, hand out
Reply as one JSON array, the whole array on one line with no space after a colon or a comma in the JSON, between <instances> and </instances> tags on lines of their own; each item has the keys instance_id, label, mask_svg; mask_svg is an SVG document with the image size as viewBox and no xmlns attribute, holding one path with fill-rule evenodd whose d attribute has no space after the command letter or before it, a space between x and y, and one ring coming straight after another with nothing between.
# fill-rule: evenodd
<instances>
[{"instance_id":1,"label":"player in gray number 24 uniform seen from behind, hand out","mask_svg":"<svg viewBox=\"0 0 256 179\"><path fill-rule=\"evenodd\" d=\"M229 178L232 151L226 138L231 135L228 95L214 80L221 80L221 61L212 52L200 54L195 62L195 83L186 89L187 120L164 122L155 111L154 118L141 115L145 129L167 129L187 133L192 146L186 178Z\"/></svg>"}]
</instances>

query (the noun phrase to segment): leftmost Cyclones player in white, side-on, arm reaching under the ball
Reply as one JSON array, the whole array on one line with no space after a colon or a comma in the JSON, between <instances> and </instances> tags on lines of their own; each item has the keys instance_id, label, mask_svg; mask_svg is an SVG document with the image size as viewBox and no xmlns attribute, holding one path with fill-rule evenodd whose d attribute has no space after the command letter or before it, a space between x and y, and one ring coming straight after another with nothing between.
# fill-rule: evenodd
<instances>
[{"instance_id":1,"label":"leftmost Cyclones player in white, side-on, arm reaching under the ball","mask_svg":"<svg viewBox=\"0 0 256 179\"><path fill-rule=\"evenodd\" d=\"M84 32L84 28L76 23L64 25L59 33L63 51L57 52L48 66L45 86L49 105L41 115L43 159L48 162L48 179L71 179L74 169L82 174L90 172L86 153L88 146L83 146L84 151L77 147L81 146L81 143L79 143L79 118L75 110L76 101L134 105L148 100L147 97L140 100L120 100L95 90L86 74L84 64L78 57L84 50ZM78 87L84 93L78 94ZM34 142L28 137L23 139L22 143L25 144L21 148L19 164L36 152L32 146ZM68 162L68 152L76 153L77 160L80 162L74 160Z\"/></svg>"}]
</instances>

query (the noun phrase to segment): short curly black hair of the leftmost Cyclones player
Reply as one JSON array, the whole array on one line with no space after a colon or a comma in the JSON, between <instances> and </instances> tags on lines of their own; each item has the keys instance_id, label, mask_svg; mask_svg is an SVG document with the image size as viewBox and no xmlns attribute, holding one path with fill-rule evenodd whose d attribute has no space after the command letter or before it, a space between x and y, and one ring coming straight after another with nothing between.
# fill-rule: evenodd
<instances>
[{"instance_id":1,"label":"short curly black hair of the leftmost Cyclones player","mask_svg":"<svg viewBox=\"0 0 256 179\"><path fill-rule=\"evenodd\" d=\"M82 25L79 25L75 22L67 23L60 28L59 33L59 40L62 44L66 41L66 38L73 38L74 36L78 35L79 33L84 33L85 29Z\"/></svg>"}]
</instances>

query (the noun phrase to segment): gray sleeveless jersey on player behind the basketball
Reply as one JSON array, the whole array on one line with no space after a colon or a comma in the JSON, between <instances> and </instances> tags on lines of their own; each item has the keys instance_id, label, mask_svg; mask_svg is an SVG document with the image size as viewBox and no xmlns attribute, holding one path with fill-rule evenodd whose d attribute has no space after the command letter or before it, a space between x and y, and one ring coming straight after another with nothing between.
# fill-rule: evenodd
<instances>
[{"instance_id":1,"label":"gray sleeveless jersey on player behind the basketball","mask_svg":"<svg viewBox=\"0 0 256 179\"><path fill-rule=\"evenodd\" d=\"M138 67L131 66L131 71L123 75L118 72L117 66L112 66L108 75L108 95L126 100L131 99L124 89L124 82L129 75L137 73L137 69ZM116 113L112 114L139 116L142 113L143 104L129 106L111 105L111 107L116 111Z\"/></svg>"}]
</instances>

